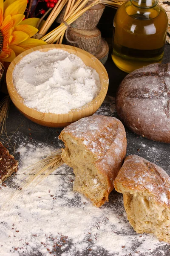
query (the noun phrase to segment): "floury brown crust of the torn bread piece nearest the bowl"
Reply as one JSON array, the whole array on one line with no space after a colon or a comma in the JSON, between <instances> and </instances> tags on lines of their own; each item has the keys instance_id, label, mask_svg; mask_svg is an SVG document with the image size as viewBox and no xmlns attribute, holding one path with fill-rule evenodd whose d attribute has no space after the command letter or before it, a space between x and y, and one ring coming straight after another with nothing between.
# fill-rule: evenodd
<instances>
[{"instance_id":1,"label":"floury brown crust of the torn bread piece nearest the bowl","mask_svg":"<svg viewBox=\"0 0 170 256\"><path fill-rule=\"evenodd\" d=\"M105 176L107 189L105 198L96 205L99 207L108 201L108 195L113 190L114 180L126 156L125 128L122 122L114 117L94 115L82 118L63 129L59 139L65 143L67 148L67 142L63 139L65 133L78 139L79 143L82 143L86 150L94 155L94 165L98 173ZM63 161L69 164L65 155L65 149L62 149Z\"/></svg>"}]
</instances>

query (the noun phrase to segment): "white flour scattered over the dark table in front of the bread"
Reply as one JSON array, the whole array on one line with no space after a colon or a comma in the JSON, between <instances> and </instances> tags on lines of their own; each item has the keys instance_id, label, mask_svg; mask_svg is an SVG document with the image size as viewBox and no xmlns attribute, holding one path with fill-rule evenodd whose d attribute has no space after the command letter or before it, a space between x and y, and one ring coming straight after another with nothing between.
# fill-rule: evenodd
<instances>
[{"instance_id":1,"label":"white flour scattered over the dark table in front of the bread","mask_svg":"<svg viewBox=\"0 0 170 256\"><path fill-rule=\"evenodd\" d=\"M38 143L20 145L20 172L54 150ZM13 181L18 179L20 175ZM0 255L164 255L166 243L136 234L130 227L121 194L112 192L110 202L96 208L73 192L73 182L72 169L64 164L37 186L32 183L12 203L9 198L15 189L8 182L1 187ZM2 207L6 201L9 207Z\"/></svg>"}]
</instances>

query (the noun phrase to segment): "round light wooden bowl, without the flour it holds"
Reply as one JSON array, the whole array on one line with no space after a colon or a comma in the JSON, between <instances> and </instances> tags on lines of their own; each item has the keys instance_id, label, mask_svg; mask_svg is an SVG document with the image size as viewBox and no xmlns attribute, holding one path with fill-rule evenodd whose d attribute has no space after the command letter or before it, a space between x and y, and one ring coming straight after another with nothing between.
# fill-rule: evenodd
<instances>
[{"instance_id":1,"label":"round light wooden bowl, without the flour it holds","mask_svg":"<svg viewBox=\"0 0 170 256\"><path fill-rule=\"evenodd\" d=\"M82 106L81 108L77 108L77 109L75 108L69 111L67 114L42 113L35 109L28 108L26 105L23 104L23 98L17 93L17 90L14 87L13 79L12 79L13 78L12 74L13 74L15 65L18 62L20 62L20 60L24 56L26 56L30 52L34 52L37 50L42 52L47 52L48 50L51 50L54 48L63 49L67 52L77 55L79 58L82 59L85 65L92 67L96 70L96 72L99 74L100 83L101 83L101 90L95 99L93 99L88 104ZM93 55L91 55L88 52L85 52L82 49L79 49L73 46L63 45L63 44L48 44L48 45L43 45L39 47L34 47L18 55L8 67L7 74L6 74L6 83L7 83L8 93L12 102L14 103L16 108L21 113L23 113L23 115L26 116L28 119L30 119L33 122L36 122L37 124L48 126L48 127L65 127L71 124L72 122L75 122L81 119L82 117L91 116L101 106L102 102L105 99L106 93L108 91L108 73L105 70L105 67L97 58L95 58Z\"/></svg>"}]
</instances>

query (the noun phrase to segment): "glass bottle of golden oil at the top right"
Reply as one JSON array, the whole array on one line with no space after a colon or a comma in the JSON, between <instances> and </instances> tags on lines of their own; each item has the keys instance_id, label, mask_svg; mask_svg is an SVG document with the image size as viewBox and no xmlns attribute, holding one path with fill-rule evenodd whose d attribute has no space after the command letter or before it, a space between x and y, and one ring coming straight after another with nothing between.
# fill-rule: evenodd
<instances>
[{"instance_id":1,"label":"glass bottle of golden oil at the top right","mask_svg":"<svg viewBox=\"0 0 170 256\"><path fill-rule=\"evenodd\" d=\"M157 0L129 0L114 18L112 59L119 69L130 73L164 55L168 19Z\"/></svg>"}]
</instances>

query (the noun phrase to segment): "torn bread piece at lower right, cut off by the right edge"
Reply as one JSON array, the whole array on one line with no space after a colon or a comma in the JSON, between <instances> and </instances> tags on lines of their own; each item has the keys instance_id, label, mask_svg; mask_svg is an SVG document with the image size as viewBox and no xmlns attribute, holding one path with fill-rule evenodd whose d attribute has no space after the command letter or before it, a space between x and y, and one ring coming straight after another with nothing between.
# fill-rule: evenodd
<instances>
[{"instance_id":1,"label":"torn bread piece at lower right, cut off by the right edge","mask_svg":"<svg viewBox=\"0 0 170 256\"><path fill-rule=\"evenodd\" d=\"M137 233L154 233L170 243L170 177L154 163L126 157L114 182L123 194L127 218Z\"/></svg>"}]
</instances>

